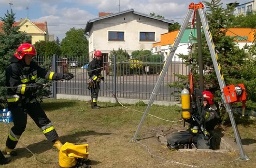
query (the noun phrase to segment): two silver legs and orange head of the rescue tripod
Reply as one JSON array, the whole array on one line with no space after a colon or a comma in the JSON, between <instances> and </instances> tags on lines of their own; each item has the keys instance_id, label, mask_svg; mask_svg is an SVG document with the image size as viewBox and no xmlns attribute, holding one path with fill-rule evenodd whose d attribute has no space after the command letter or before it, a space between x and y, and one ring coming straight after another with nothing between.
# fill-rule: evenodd
<instances>
[{"instance_id":1,"label":"two silver legs and orange head of the rescue tripod","mask_svg":"<svg viewBox=\"0 0 256 168\"><path fill-rule=\"evenodd\" d=\"M209 31L209 25L208 25L208 22L207 22L207 18L206 18L206 14L204 12L204 5L200 2L198 4L194 4L194 3L191 3L189 5L189 9L188 9L188 12L185 16L185 19L183 20L183 23L181 25L181 28L180 28L180 31L179 33L177 34L177 37L174 41L174 44L173 44L173 47L171 48L170 52L169 52L169 56L167 57L166 61L165 61L165 64L164 64L164 67L160 73L160 76L156 82L156 85L152 91L152 94L149 98L149 101L148 101L148 106L140 120L140 123L139 123L139 126L134 134L134 137L130 140L130 142L134 142L134 141L137 141L137 135L141 129L141 126L148 114L148 111L149 111L149 108L150 106L153 104L154 100L155 100L155 97L156 97L156 94L160 88L160 85L164 79L164 76L168 70L168 67L171 63L171 60L172 60L172 57L174 56L174 53L176 51L176 48L178 47L178 44L180 43L180 40L181 40L181 37L185 31L185 28L189 22L189 19L190 17L192 16L192 13L194 12L194 15L196 12L197 13L197 16L200 17L201 19L201 23L202 23L202 27L203 27L203 30L204 30L204 34L205 34L205 37L206 37L206 41L207 41L207 44L208 44L208 47L209 47L209 50L210 50L210 53L211 53L211 57L212 57L212 61L213 61L213 65L214 65L214 69L215 69L215 72L216 72L216 75L217 75L217 79L218 79L218 83L219 83L219 86L220 86L220 90L221 90L221 97L222 97L222 102L224 103L225 107L226 107L226 110L228 112L228 115L229 115L229 118L230 118L230 121L231 121L231 124L232 124L232 128L233 128L233 131L234 131L234 134L235 134L235 139L236 139L236 142L237 142L237 146L238 146L238 149L239 149L239 152L241 154L241 157L242 159L245 159L245 160L249 160L249 158L245 155L244 153L244 150L243 150L243 146L242 146L242 142L241 142L241 138L240 138L240 135L239 135L239 132L238 132L238 129L237 129L237 126L236 126L236 123L235 123L235 119L234 119L234 115L232 113L232 108L231 108L231 105L229 103L226 102L226 99L224 97L224 94L223 94L223 88L226 86L225 84L225 81L224 81L224 77L223 77L223 74L221 74L220 70L221 70L221 67L220 65L218 64L217 62L217 59L218 59L218 55L217 53L215 52L215 45L213 43L213 39L212 39L212 35ZM198 20L200 20L198 19ZM197 27L197 29L201 29L200 27Z\"/></svg>"}]
</instances>

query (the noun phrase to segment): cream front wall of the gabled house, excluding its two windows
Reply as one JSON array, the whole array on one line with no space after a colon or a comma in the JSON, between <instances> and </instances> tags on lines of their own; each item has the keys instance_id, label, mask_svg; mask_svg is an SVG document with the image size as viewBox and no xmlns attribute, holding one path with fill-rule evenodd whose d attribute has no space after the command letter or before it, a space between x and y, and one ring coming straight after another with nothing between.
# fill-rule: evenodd
<instances>
[{"instance_id":1,"label":"cream front wall of the gabled house, excluding its two windows","mask_svg":"<svg viewBox=\"0 0 256 168\"><path fill-rule=\"evenodd\" d=\"M108 41L108 31L124 31L125 41ZM139 32L155 32L155 41L140 42ZM93 32L93 33L92 33ZM93 23L89 32L89 54L93 49L102 53L122 48L130 55L135 50L150 50L154 42L160 41L160 35L168 32L168 23L139 16L132 12L102 19Z\"/></svg>"}]
</instances>

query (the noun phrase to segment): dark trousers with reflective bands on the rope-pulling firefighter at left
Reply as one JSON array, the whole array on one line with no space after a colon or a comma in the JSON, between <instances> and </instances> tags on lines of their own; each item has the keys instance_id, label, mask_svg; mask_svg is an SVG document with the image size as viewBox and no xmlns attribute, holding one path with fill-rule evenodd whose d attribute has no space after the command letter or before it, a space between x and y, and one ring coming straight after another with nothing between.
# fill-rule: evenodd
<instances>
[{"instance_id":1,"label":"dark trousers with reflective bands on the rope-pulling firefighter at left","mask_svg":"<svg viewBox=\"0 0 256 168\"><path fill-rule=\"evenodd\" d=\"M21 134L24 132L26 128L27 114L41 129L41 131L46 136L48 141L54 141L55 139L58 138L57 132L55 131L51 121L46 116L39 102L28 102L21 106L9 106L9 110L13 115L14 126L11 128L12 132L9 133L9 136L6 141L6 146L8 148L14 149L16 147L18 142L17 139L20 138ZM12 135L12 133L14 135Z\"/></svg>"}]
</instances>

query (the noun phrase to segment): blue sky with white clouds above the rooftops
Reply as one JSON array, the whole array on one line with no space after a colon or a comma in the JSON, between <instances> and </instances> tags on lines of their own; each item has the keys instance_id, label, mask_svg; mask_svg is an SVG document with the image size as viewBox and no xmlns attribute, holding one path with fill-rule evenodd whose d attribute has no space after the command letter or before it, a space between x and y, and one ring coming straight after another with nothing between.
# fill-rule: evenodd
<instances>
[{"instance_id":1,"label":"blue sky with white clouds above the rooftops","mask_svg":"<svg viewBox=\"0 0 256 168\"><path fill-rule=\"evenodd\" d=\"M210 0L207 0L210 1ZM237 0L240 4L251 0ZM0 0L0 17L12 8L16 21L29 18L32 22L47 21L49 34L61 40L65 33L74 27L85 28L90 19L99 12L116 13L128 9L149 14L162 15L165 19L182 23L191 3L198 0ZM232 0L222 0L223 6ZM11 3L11 4L9 4Z\"/></svg>"}]
</instances>

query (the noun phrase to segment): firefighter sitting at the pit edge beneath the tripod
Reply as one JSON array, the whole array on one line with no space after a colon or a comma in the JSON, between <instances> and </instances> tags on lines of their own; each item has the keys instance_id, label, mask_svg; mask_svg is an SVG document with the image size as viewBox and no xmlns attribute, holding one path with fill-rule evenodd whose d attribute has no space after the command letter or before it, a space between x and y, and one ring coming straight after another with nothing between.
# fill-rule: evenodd
<instances>
[{"instance_id":1,"label":"firefighter sitting at the pit edge beneath the tripod","mask_svg":"<svg viewBox=\"0 0 256 168\"><path fill-rule=\"evenodd\" d=\"M200 94L197 94L197 98L201 99L202 110L200 107L194 106L192 107L193 112L186 117L184 120L189 123L188 129L186 131L174 132L167 136L168 146L170 148L178 149L180 145L191 145L192 143L198 149L210 149L211 146L211 137L212 131L215 125L218 122L219 115L216 112L217 108L214 104L213 94L209 91L204 91ZM202 94L202 96L201 96ZM203 98L201 98L203 97ZM199 111L202 115L199 114ZM203 121L200 123L199 121Z\"/></svg>"}]
</instances>

